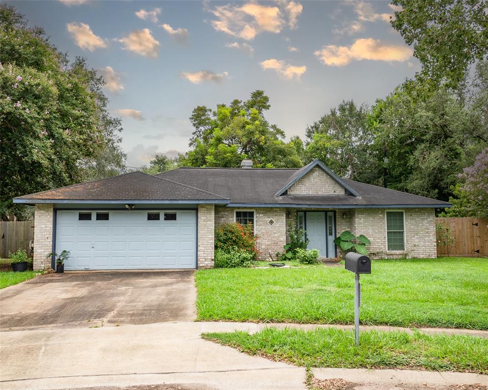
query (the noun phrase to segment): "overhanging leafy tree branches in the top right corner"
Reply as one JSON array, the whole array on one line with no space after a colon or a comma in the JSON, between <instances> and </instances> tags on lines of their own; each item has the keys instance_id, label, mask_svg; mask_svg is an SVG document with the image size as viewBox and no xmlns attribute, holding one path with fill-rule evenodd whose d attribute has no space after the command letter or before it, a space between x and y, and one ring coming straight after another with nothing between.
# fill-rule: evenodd
<instances>
[{"instance_id":1,"label":"overhanging leafy tree branches in the top right corner","mask_svg":"<svg viewBox=\"0 0 488 390\"><path fill-rule=\"evenodd\" d=\"M456 87L488 55L486 0L393 0L391 20L422 64L421 78Z\"/></svg>"}]
</instances>

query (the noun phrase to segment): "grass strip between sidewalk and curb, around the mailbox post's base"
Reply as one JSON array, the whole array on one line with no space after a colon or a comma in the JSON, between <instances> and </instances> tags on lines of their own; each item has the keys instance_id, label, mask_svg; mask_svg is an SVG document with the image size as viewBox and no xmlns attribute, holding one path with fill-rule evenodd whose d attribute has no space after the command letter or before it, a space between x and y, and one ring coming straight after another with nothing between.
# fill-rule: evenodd
<instances>
[{"instance_id":1,"label":"grass strip between sidewalk and curb, around the mailbox post's base","mask_svg":"<svg viewBox=\"0 0 488 390\"><path fill-rule=\"evenodd\" d=\"M359 334L339 329L277 330L207 333L203 338L305 367L396 368L488 374L488 339L465 335L426 335L419 331L369 331Z\"/></svg>"}]
</instances>

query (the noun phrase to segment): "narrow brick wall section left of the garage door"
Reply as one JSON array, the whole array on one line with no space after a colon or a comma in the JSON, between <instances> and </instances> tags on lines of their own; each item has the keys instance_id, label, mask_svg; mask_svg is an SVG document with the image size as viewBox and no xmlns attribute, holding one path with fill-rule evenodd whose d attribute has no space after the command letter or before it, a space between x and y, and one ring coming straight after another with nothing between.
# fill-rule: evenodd
<instances>
[{"instance_id":1,"label":"narrow brick wall section left of the garage door","mask_svg":"<svg viewBox=\"0 0 488 390\"><path fill-rule=\"evenodd\" d=\"M40 271L51 267L52 252L52 204L38 204L34 214L34 271Z\"/></svg>"}]
</instances>

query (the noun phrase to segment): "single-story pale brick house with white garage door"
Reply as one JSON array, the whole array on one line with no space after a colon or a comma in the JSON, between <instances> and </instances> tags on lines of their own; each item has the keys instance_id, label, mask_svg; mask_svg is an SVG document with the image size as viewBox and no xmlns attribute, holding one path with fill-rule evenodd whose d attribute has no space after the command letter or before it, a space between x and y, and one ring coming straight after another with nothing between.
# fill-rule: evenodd
<instances>
[{"instance_id":1,"label":"single-story pale brick house with white garage door","mask_svg":"<svg viewBox=\"0 0 488 390\"><path fill-rule=\"evenodd\" d=\"M34 205L34 269L182 269L214 265L214 232L251 222L262 259L286 244L298 223L309 247L337 256L345 230L371 240L373 257L435 257L434 209L447 202L341 179L319 160L301 169L178 168L132 172L14 199Z\"/></svg>"}]
</instances>

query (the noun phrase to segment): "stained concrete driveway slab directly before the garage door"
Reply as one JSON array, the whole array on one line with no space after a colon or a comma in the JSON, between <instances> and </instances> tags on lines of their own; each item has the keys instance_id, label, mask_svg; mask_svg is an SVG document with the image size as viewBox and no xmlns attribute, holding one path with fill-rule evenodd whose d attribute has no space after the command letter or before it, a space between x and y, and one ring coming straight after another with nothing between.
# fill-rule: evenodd
<instances>
[{"instance_id":1,"label":"stained concrete driveway slab directly before the garage door","mask_svg":"<svg viewBox=\"0 0 488 390\"><path fill-rule=\"evenodd\" d=\"M0 330L193 321L194 271L67 272L0 290Z\"/></svg>"}]
</instances>

